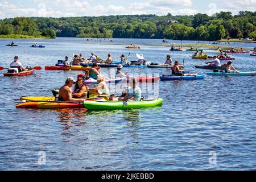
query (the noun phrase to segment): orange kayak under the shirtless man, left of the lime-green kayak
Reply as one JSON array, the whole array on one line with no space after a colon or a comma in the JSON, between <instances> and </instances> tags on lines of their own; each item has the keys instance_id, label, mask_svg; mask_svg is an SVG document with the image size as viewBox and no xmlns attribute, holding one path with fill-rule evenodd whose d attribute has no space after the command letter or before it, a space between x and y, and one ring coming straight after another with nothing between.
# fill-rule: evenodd
<instances>
[{"instance_id":1,"label":"orange kayak under the shirtless man, left of the lime-green kayak","mask_svg":"<svg viewBox=\"0 0 256 182\"><path fill-rule=\"evenodd\" d=\"M23 102L16 105L16 108L38 108L38 109L61 109L61 108L83 108L82 102L58 102L58 101L43 101L43 102Z\"/></svg>"}]
</instances>

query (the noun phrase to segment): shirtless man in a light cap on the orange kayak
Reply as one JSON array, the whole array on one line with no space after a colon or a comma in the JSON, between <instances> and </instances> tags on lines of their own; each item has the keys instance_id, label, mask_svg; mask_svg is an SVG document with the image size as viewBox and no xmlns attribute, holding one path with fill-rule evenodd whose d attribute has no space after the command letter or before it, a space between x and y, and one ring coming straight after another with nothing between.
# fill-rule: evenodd
<instances>
[{"instance_id":1,"label":"shirtless man in a light cap on the orange kayak","mask_svg":"<svg viewBox=\"0 0 256 182\"><path fill-rule=\"evenodd\" d=\"M58 94L58 101L77 101L84 102L84 98L72 98L72 86L76 80L73 77L68 77L65 81L65 85L61 86Z\"/></svg>"}]
</instances>

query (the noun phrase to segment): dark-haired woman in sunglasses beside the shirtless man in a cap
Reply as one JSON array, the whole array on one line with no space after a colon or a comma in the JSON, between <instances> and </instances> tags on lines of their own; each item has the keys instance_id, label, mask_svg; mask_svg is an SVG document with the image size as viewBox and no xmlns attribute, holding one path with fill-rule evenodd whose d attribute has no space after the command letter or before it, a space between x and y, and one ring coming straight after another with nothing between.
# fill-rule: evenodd
<instances>
[{"instance_id":1,"label":"dark-haired woman in sunglasses beside the shirtless man in a cap","mask_svg":"<svg viewBox=\"0 0 256 182\"><path fill-rule=\"evenodd\" d=\"M86 98L88 93L88 87L84 82L84 78L77 77L77 81L74 87L73 98Z\"/></svg>"}]
</instances>

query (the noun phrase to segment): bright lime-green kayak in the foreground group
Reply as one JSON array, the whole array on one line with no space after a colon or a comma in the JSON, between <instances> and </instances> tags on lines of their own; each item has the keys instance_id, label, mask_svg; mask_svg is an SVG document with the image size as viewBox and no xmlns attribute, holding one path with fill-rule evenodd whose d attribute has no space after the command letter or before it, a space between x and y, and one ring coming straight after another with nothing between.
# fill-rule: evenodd
<instances>
[{"instance_id":1,"label":"bright lime-green kayak in the foreground group","mask_svg":"<svg viewBox=\"0 0 256 182\"><path fill-rule=\"evenodd\" d=\"M84 107L90 110L114 110L114 109L140 109L161 105L162 98L148 101L127 101L127 106L122 101L84 101Z\"/></svg>"}]
</instances>

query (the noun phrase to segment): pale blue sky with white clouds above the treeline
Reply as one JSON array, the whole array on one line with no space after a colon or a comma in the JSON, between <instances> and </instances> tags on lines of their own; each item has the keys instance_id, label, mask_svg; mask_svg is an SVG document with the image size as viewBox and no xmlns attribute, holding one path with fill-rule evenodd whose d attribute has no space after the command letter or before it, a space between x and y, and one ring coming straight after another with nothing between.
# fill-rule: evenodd
<instances>
[{"instance_id":1,"label":"pale blue sky with white clouds above the treeline","mask_svg":"<svg viewBox=\"0 0 256 182\"><path fill-rule=\"evenodd\" d=\"M16 16L100 16L123 14L212 15L255 11L256 0L0 0L0 19Z\"/></svg>"}]
</instances>

